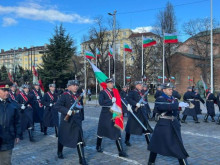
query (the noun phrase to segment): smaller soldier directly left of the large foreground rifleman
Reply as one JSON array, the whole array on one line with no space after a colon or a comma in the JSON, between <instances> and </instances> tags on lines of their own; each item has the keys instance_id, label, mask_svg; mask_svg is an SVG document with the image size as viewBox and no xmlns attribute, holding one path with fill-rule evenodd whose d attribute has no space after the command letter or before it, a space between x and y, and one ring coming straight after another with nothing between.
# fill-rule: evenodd
<instances>
[{"instance_id":1,"label":"smaller soldier directly left of the large foreground rifleman","mask_svg":"<svg viewBox=\"0 0 220 165\"><path fill-rule=\"evenodd\" d=\"M57 109L54 108L54 105L57 102L57 94L55 93L56 85L49 84L49 91L44 94L41 102L45 106L43 125L44 125L44 135L47 135L47 127L55 127L55 134L58 137L58 124L59 116Z\"/></svg>"}]
</instances>

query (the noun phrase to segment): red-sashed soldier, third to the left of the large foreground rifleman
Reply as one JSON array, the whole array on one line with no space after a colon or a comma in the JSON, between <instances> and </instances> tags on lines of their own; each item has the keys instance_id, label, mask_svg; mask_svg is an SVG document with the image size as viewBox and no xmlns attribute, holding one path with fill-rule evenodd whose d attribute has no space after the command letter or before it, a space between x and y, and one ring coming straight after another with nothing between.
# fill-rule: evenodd
<instances>
[{"instance_id":1,"label":"red-sashed soldier, third to the left of the large foreground rifleman","mask_svg":"<svg viewBox=\"0 0 220 165\"><path fill-rule=\"evenodd\" d=\"M33 138L33 96L29 93L29 85L22 85L22 91L17 96L16 100L21 105L20 119L21 119L21 140L23 140L23 132L28 130L29 140L34 142Z\"/></svg>"}]
</instances>

